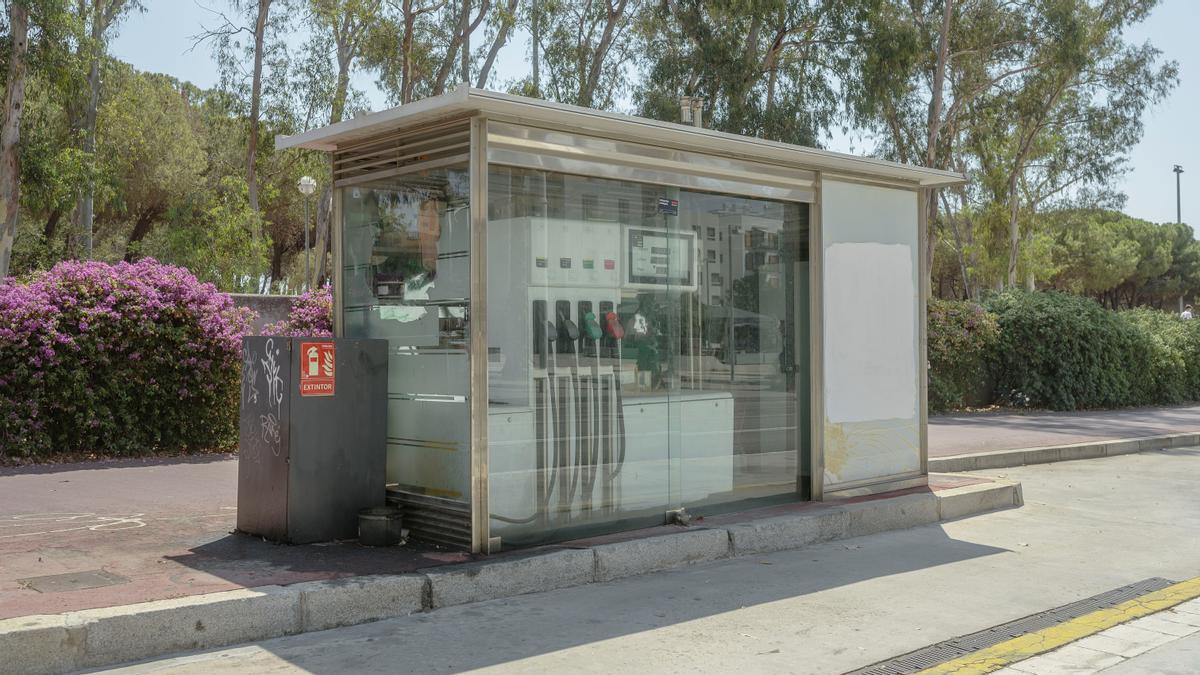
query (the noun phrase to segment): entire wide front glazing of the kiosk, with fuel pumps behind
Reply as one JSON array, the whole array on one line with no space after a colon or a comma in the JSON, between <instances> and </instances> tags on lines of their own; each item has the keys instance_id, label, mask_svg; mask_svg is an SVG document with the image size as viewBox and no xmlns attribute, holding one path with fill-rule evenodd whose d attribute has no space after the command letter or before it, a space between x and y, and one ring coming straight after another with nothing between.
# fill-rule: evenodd
<instances>
[{"instance_id":1,"label":"entire wide front glazing of the kiosk, with fuel pumps behind","mask_svg":"<svg viewBox=\"0 0 1200 675\"><path fill-rule=\"evenodd\" d=\"M502 166L488 192L492 536L797 496L805 204Z\"/></svg>"}]
</instances>

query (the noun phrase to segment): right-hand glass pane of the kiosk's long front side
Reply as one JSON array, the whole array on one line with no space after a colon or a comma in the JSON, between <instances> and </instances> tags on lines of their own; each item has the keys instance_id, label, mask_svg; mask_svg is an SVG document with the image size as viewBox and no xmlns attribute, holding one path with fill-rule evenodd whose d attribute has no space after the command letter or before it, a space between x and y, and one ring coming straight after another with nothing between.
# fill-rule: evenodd
<instances>
[{"instance_id":1,"label":"right-hand glass pane of the kiosk's long front side","mask_svg":"<svg viewBox=\"0 0 1200 675\"><path fill-rule=\"evenodd\" d=\"M698 288L672 298L679 500L712 513L794 498L808 446L808 204L684 191L676 227L716 234L700 243Z\"/></svg>"}]
</instances>

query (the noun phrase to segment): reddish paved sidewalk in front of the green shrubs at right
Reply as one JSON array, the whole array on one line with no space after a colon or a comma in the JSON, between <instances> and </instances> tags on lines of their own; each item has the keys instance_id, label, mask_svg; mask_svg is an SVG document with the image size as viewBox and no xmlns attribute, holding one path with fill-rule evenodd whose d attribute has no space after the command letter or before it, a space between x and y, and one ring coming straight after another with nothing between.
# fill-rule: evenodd
<instances>
[{"instance_id":1,"label":"reddish paved sidewalk in front of the green shrubs at right","mask_svg":"<svg viewBox=\"0 0 1200 675\"><path fill-rule=\"evenodd\" d=\"M970 413L929 418L929 456L1200 431L1200 406L1120 411Z\"/></svg>"}]
</instances>

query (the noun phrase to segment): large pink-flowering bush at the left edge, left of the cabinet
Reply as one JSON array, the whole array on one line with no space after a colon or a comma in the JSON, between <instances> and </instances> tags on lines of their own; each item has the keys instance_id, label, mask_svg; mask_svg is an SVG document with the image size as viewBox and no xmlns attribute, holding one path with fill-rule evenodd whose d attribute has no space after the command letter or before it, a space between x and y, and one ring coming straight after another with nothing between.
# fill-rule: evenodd
<instances>
[{"instance_id":1,"label":"large pink-flowering bush at the left edge, left of the cabinet","mask_svg":"<svg viewBox=\"0 0 1200 675\"><path fill-rule=\"evenodd\" d=\"M0 282L0 454L230 446L248 322L150 258Z\"/></svg>"}]
</instances>

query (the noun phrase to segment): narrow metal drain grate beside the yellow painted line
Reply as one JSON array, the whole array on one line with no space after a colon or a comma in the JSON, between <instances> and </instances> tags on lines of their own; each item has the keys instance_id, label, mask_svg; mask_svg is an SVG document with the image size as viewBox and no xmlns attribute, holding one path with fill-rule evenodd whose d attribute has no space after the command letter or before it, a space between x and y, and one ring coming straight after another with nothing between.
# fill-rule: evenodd
<instances>
[{"instance_id":1,"label":"narrow metal drain grate beside the yellow painted line","mask_svg":"<svg viewBox=\"0 0 1200 675\"><path fill-rule=\"evenodd\" d=\"M888 661L881 661L880 663L860 668L847 675L908 675L911 673L918 673L960 656L998 645L1000 643L1013 638L1019 638L1026 633L1033 633L1042 631L1043 628L1057 626L1066 621L1070 621L1072 619L1079 619L1085 614L1091 614L1098 609L1118 605L1139 596L1165 589L1171 584L1174 584L1174 581L1169 581L1160 577L1144 579L1141 581L1129 584L1128 586L1121 586L1120 589L1103 592L1098 596L1092 596L1070 604L1039 611L1024 619L1018 619L1016 621L1009 621L1008 623L1001 623L1000 626L979 631L978 633L971 633L970 635L960 635L958 638L944 640L937 643L936 645L930 645Z\"/></svg>"}]
</instances>

